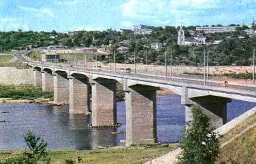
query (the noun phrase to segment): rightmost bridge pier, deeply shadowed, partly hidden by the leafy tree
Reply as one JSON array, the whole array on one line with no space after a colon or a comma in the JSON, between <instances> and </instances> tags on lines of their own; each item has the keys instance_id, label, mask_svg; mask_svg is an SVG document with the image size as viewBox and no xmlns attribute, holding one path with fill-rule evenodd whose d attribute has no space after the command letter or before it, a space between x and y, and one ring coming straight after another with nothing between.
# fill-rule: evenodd
<instances>
[{"instance_id":1,"label":"rightmost bridge pier, deeply shadowed, partly hidden by the leafy tree","mask_svg":"<svg viewBox=\"0 0 256 164\"><path fill-rule=\"evenodd\" d=\"M185 121L186 129L187 122L193 121L192 108L195 104L203 108L203 113L210 117L211 124L215 127L221 127L227 123L227 103L231 102L231 98L220 96L200 96L195 98L183 98L186 95L187 89L183 87L184 94L181 95L181 104L185 105Z\"/></svg>"}]
</instances>

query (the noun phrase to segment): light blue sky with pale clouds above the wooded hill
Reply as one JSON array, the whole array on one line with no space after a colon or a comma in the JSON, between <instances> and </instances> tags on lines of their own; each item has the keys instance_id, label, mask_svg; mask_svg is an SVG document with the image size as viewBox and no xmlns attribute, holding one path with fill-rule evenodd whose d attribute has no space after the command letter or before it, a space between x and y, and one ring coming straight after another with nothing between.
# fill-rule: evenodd
<instances>
[{"instance_id":1,"label":"light blue sky with pale clouds above the wooded hill","mask_svg":"<svg viewBox=\"0 0 256 164\"><path fill-rule=\"evenodd\" d=\"M0 31L249 25L255 17L256 0L0 0Z\"/></svg>"}]
</instances>

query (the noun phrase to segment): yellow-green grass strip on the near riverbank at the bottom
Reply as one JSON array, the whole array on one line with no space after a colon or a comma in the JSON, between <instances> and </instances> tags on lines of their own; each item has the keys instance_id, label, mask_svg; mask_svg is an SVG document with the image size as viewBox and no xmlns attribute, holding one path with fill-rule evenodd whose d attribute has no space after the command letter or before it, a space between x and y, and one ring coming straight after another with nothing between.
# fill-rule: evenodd
<instances>
[{"instance_id":1,"label":"yellow-green grass strip on the near riverbank at the bottom","mask_svg":"<svg viewBox=\"0 0 256 164\"><path fill-rule=\"evenodd\" d=\"M65 159L73 159L77 162L77 157L82 157L82 163L90 164L139 164L150 161L160 155L171 152L176 145L170 147L156 148L110 148L106 150L63 150L49 152L52 164L63 164ZM22 151L3 151L0 152L0 159L8 157L19 157Z\"/></svg>"}]
</instances>

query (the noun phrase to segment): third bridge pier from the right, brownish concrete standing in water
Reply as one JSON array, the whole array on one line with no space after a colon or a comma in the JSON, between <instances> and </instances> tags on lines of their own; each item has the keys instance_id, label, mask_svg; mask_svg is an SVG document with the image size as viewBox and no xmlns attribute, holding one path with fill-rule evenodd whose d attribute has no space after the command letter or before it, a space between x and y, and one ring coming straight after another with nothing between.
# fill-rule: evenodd
<instances>
[{"instance_id":1,"label":"third bridge pier from the right, brownish concrete standing in water","mask_svg":"<svg viewBox=\"0 0 256 164\"><path fill-rule=\"evenodd\" d=\"M115 125L116 82L109 79L92 81L92 126Z\"/></svg>"}]
</instances>

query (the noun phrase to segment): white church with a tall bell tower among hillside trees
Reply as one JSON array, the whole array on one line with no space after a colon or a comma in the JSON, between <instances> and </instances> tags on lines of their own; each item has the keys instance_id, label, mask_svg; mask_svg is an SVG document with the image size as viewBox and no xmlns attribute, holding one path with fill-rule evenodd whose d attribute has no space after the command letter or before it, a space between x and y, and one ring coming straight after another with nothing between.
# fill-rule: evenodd
<instances>
[{"instance_id":1,"label":"white church with a tall bell tower among hillside trees","mask_svg":"<svg viewBox=\"0 0 256 164\"><path fill-rule=\"evenodd\" d=\"M203 35L197 35L192 39L185 39L185 31L183 30L182 26L179 29L178 37L177 37L177 44L181 47L193 47L193 46L201 46L205 45L206 37Z\"/></svg>"}]
</instances>

